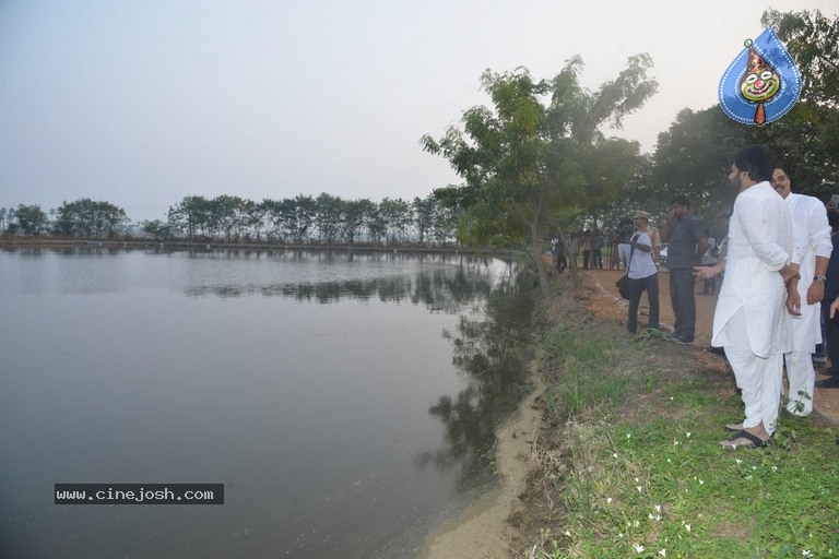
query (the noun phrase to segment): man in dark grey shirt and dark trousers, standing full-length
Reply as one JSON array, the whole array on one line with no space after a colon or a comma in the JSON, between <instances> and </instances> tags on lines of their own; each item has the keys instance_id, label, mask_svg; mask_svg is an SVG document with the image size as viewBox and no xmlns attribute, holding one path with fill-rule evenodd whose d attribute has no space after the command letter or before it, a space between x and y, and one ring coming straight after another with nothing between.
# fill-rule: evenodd
<instances>
[{"instance_id":1,"label":"man in dark grey shirt and dark trousers, standing full-length","mask_svg":"<svg viewBox=\"0 0 839 559\"><path fill-rule=\"evenodd\" d=\"M670 299L676 318L672 337L683 344L693 344L696 334L694 266L700 264L702 254L708 250L708 237L701 222L690 213L690 201L686 195L677 195L670 201L670 213L661 229L661 238L670 242Z\"/></svg>"}]
</instances>

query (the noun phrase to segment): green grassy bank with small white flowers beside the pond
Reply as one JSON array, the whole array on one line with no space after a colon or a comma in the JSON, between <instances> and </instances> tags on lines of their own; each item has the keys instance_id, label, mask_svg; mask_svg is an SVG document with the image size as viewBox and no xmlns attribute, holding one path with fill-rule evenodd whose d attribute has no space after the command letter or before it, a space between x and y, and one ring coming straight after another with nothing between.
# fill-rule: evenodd
<instances>
[{"instance_id":1,"label":"green grassy bank with small white flowers beside the pond","mask_svg":"<svg viewBox=\"0 0 839 559\"><path fill-rule=\"evenodd\" d=\"M542 321L541 531L520 557L839 557L839 429L784 413L778 443L725 450L731 373L571 298Z\"/></svg>"}]
</instances>

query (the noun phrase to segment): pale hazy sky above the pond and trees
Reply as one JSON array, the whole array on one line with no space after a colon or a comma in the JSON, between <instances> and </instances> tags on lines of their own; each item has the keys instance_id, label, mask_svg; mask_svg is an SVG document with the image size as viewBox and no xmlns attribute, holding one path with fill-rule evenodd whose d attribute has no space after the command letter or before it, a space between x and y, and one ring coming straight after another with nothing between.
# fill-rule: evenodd
<instances>
[{"instance_id":1,"label":"pale hazy sky above the pond and trees","mask_svg":"<svg viewBox=\"0 0 839 559\"><path fill-rule=\"evenodd\" d=\"M717 103L766 8L839 0L0 0L0 207L82 198L166 219L185 197L413 200L460 183L420 139L489 105L480 79L590 90L648 52L659 92L606 130L654 151Z\"/></svg>"}]
</instances>

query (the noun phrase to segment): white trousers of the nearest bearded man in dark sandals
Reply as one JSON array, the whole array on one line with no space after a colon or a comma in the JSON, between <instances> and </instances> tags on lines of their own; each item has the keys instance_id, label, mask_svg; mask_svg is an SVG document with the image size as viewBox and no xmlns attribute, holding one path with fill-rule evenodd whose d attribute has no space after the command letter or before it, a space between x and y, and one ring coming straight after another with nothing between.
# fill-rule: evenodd
<instances>
[{"instance_id":1,"label":"white trousers of the nearest bearded man in dark sandals","mask_svg":"<svg viewBox=\"0 0 839 559\"><path fill-rule=\"evenodd\" d=\"M771 435L776 430L781 407L783 354L760 357L752 352L743 309L734 313L725 329L729 330L730 344L723 346L725 357L734 369L734 378L746 407L743 427L757 427L763 423Z\"/></svg>"}]
</instances>

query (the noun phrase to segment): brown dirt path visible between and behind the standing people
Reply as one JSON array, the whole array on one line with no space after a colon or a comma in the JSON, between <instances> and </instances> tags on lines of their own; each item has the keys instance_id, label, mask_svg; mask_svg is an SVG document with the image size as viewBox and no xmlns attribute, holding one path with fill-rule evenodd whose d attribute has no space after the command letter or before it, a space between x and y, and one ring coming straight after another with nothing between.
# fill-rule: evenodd
<instances>
[{"instance_id":1,"label":"brown dirt path visible between and behind the standing people","mask_svg":"<svg viewBox=\"0 0 839 559\"><path fill-rule=\"evenodd\" d=\"M591 304L595 307L595 312L614 316L616 320L626 322L627 304L621 298L615 288L615 282L624 275L624 272L618 270L578 270L578 273L580 274L581 285L589 286L595 295L591 299ZM697 282L697 293L701 292L701 286L702 284ZM662 328L671 330L674 317L673 307L670 302L670 274L666 269L659 273L659 292L660 322ZM694 345L697 348L708 349L711 345L711 326L713 325L713 310L716 306L716 296L696 296L696 341ZM639 324L646 322L648 310L649 306L647 295L645 294L641 296L641 304L638 310ZM728 368L723 359L710 357L711 354L708 355L709 364L718 361ZM816 372L818 373L824 370L816 369ZM816 380L824 378L822 374L816 374ZM813 407L831 423L839 424L839 389L816 389Z\"/></svg>"}]
</instances>

